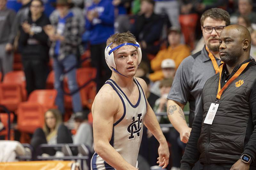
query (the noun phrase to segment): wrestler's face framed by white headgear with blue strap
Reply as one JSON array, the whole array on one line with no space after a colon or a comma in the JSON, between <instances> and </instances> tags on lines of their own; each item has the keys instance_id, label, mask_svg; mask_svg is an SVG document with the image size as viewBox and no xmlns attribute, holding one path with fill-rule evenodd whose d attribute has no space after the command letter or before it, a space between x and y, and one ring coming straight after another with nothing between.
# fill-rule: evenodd
<instances>
[{"instance_id":1,"label":"wrestler's face framed by white headgear with blue strap","mask_svg":"<svg viewBox=\"0 0 256 170\"><path fill-rule=\"evenodd\" d=\"M115 46L114 46L115 47ZM116 70L126 77L133 77L138 69L137 48L125 45L114 51Z\"/></svg>"}]
</instances>

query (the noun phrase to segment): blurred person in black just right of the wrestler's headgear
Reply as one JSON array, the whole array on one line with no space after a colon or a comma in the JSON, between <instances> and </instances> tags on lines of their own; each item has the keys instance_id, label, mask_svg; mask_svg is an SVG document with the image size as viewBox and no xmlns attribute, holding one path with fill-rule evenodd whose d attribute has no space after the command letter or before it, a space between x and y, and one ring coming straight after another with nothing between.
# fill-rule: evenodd
<instances>
[{"instance_id":1,"label":"blurred person in black just right of the wrestler's headgear","mask_svg":"<svg viewBox=\"0 0 256 170\"><path fill-rule=\"evenodd\" d=\"M156 55L158 52L164 24L161 17L154 13L154 5L153 0L142 0L140 13L135 16L135 22L131 27L131 33L140 43L142 60L148 63L148 66L150 63L147 54Z\"/></svg>"}]
</instances>

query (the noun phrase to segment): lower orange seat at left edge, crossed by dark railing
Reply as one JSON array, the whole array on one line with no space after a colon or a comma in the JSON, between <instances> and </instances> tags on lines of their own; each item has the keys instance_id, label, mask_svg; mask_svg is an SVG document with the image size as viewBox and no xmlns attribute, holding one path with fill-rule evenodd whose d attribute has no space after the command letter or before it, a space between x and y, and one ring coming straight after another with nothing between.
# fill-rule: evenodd
<instances>
[{"instance_id":1,"label":"lower orange seat at left edge, crossed by dark railing","mask_svg":"<svg viewBox=\"0 0 256 170\"><path fill-rule=\"evenodd\" d=\"M13 122L14 115L11 113L10 115L10 123ZM7 113L0 113L0 120L4 124L4 128L0 131L0 136L4 136L5 140L8 140L8 114ZM14 140L14 130L10 130L10 139Z\"/></svg>"}]
</instances>

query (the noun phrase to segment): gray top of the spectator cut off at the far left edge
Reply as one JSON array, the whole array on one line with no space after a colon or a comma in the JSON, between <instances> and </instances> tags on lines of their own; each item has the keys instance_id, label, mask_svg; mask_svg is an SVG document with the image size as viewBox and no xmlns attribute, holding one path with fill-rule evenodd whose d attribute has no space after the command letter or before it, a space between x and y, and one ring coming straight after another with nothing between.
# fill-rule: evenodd
<instances>
[{"instance_id":1,"label":"gray top of the spectator cut off at the far left edge","mask_svg":"<svg viewBox=\"0 0 256 170\"><path fill-rule=\"evenodd\" d=\"M15 15L10 9L0 10L0 44L8 42Z\"/></svg>"}]
</instances>

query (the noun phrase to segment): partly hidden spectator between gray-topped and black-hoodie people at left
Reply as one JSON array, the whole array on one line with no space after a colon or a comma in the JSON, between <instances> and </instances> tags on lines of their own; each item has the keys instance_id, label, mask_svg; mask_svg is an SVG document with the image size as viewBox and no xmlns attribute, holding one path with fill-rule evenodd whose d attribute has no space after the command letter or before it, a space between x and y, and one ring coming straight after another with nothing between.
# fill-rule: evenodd
<instances>
[{"instance_id":1,"label":"partly hidden spectator between gray-topped and black-hoodie people at left","mask_svg":"<svg viewBox=\"0 0 256 170\"><path fill-rule=\"evenodd\" d=\"M21 0L21 4L22 6L20 10L17 12L17 15L12 24L11 35L8 43L6 44L7 50L10 50L13 48L14 39L19 31L21 24L24 21L28 20L28 13L29 13L29 7L31 5L31 0Z\"/></svg>"}]
</instances>

